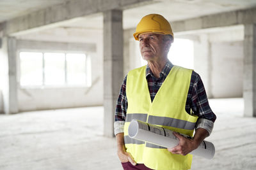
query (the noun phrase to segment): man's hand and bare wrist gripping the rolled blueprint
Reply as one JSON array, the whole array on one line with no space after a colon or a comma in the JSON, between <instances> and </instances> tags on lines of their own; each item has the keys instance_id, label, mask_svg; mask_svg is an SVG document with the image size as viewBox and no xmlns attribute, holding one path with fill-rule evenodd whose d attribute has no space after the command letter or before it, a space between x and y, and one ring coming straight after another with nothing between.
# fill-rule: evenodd
<instances>
[{"instance_id":1,"label":"man's hand and bare wrist gripping the rolled blueprint","mask_svg":"<svg viewBox=\"0 0 256 170\"><path fill-rule=\"evenodd\" d=\"M168 148L169 152L173 154L180 154L180 155L187 155L188 153L192 152L204 139L208 136L208 132L205 129L198 128L196 129L195 136L193 139L185 138L181 136L177 132L173 132L173 134L179 138L179 145L175 146L174 148Z\"/></svg>"}]
</instances>

